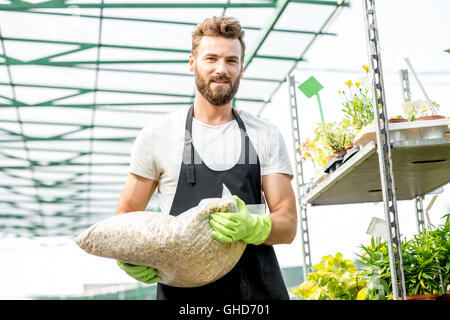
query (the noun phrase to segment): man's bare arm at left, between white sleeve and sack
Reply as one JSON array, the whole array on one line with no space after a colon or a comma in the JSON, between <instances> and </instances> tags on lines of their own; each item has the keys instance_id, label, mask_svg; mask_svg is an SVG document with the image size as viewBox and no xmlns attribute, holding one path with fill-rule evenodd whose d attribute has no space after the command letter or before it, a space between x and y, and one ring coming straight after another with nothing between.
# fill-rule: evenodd
<instances>
[{"instance_id":1,"label":"man's bare arm at left, between white sleeve and sack","mask_svg":"<svg viewBox=\"0 0 450 320\"><path fill-rule=\"evenodd\" d=\"M158 181L128 174L115 215L133 211L144 211L153 193L158 186Z\"/></svg>"}]
</instances>

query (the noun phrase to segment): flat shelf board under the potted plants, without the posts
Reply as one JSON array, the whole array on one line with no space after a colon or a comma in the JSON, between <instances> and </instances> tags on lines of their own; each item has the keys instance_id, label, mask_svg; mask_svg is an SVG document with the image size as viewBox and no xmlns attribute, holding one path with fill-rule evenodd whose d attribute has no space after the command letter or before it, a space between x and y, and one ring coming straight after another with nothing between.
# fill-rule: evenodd
<instances>
[{"instance_id":1,"label":"flat shelf board under the potted plants, without the posts","mask_svg":"<svg viewBox=\"0 0 450 320\"><path fill-rule=\"evenodd\" d=\"M450 138L392 141L397 200L425 195L450 181ZM369 141L329 175L324 175L302 202L313 206L383 201L377 147Z\"/></svg>"}]
</instances>

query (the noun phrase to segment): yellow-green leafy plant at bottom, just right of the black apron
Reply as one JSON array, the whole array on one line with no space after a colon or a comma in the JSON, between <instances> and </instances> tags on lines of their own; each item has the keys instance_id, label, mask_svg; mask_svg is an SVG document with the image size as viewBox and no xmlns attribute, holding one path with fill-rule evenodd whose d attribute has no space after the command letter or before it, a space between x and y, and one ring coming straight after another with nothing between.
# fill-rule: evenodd
<instances>
[{"instance_id":1,"label":"yellow-green leafy plant at bottom, just right of the black apron","mask_svg":"<svg viewBox=\"0 0 450 320\"><path fill-rule=\"evenodd\" d=\"M351 260L341 253L322 257L298 288L290 290L302 300L356 300L364 286L358 270Z\"/></svg>"}]
</instances>

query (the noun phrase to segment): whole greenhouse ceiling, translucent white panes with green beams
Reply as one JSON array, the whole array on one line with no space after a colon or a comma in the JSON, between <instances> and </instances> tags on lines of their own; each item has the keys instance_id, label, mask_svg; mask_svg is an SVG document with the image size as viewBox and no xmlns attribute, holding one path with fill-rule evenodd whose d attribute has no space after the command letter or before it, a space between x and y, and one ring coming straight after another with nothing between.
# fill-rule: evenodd
<instances>
[{"instance_id":1,"label":"whole greenhouse ceiling, translucent white panes with green beams","mask_svg":"<svg viewBox=\"0 0 450 320\"><path fill-rule=\"evenodd\" d=\"M138 131L193 101L187 62L204 18L243 25L234 105L258 115L345 6L0 0L0 237L73 236L113 215Z\"/></svg>"}]
</instances>

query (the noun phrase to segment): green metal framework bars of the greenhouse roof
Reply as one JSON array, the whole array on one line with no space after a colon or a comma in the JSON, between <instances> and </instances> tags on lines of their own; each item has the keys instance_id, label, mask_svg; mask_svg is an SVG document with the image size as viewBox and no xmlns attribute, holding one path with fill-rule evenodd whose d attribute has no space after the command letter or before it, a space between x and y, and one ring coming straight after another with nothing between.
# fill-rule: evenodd
<instances>
[{"instance_id":1,"label":"green metal framework bars of the greenhouse roof","mask_svg":"<svg viewBox=\"0 0 450 320\"><path fill-rule=\"evenodd\" d=\"M0 238L2 236L74 236L77 232L83 230L98 219L110 216L117 203L120 188L125 180L125 176L117 172L116 168L126 168L129 165L127 157L137 132L141 129L139 126L118 125L118 124L99 124L96 115L100 111L108 110L116 113L149 114L158 116L167 110L175 110L179 107L185 107L192 103L194 93L183 94L177 90L162 92L155 90L127 90L127 89L107 89L98 87L98 74L101 71L118 71L131 74L146 74L164 76L167 79L176 77L189 77L193 80L191 73L160 71L160 70L132 70L128 65L180 65L187 63L185 58L190 53L190 48L178 49L164 46L140 46L140 45L121 45L102 43L103 21L115 20L119 22L143 22L149 24L167 24L176 25L192 29L199 21L177 21L164 19L143 19L140 17L124 18L111 14L105 15L104 9L217 9L219 14L226 14L227 9L239 10L252 9L255 16L258 10L273 10L270 18L261 23L260 27L246 26L244 30L259 32L258 40L253 47L247 48L244 59L244 68L247 69L256 59L265 59L267 61L286 61L291 62L291 66L284 71L284 76L276 77L244 77L246 81L256 81L271 86L269 97L267 91L255 92L252 97L237 97L234 103L250 103L260 105L258 115L271 102L272 97L284 83L287 74L291 73L300 61L305 60L305 56L311 45L321 36L336 36L335 33L327 32L326 28L330 21L336 17L339 11L348 6L347 1L313 1L313 0L267 0L246 2L190 2L165 3L161 2L126 2L123 3L103 3L97 4L76 3L72 1L67 3L64 0L42 1L39 3L29 3L21 0L11 0L9 4L0 4L0 14L9 12L19 12L24 16L46 17L60 16L70 17L71 13L59 10L46 11L51 9L69 9L76 6L79 9L99 9L98 15L86 14L82 12L79 17L97 19L99 21L98 41L95 43L79 41L56 41L48 39L36 39L32 37L11 37L3 35L4 23L0 20L0 72L3 79L7 81L0 82L0 111L14 110L16 118L2 119L0 116ZM318 30L298 30L277 27L277 22L283 14L290 10L291 6L324 6L332 8L331 14L324 15L323 24ZM116 12L116 11L114 11ZM109 13L109 12L108 12ZM297 56L266 55L261 54L261 47L268 42L269 35L286 34L307 35L311 40ZM75 48L61 50L60 52L49 54L39 59L23 61L8 53L8 43L20 42L21 44L44 44L44 45L67 45ZM269 43L270 44L270 43ZM155 51L170 54L180 54L180 59L145 59L137 60L133 57L125 56L120 60L102 60L100 56L101 48L129 49L140 51ZM64 58L73 53L83 53L87 50L95 50L96 58L92 60L70 59L64 61L54 61L55 58ZM120 64L119 68L115 65ZM63 68L77 70L95 71L95 82L93 86L65 86L50 85L48 83L27 83L23 81L14 81L14 68L24 66L39 66L45 68ZM53 69L52 69L53 70ZM56 69L55 69L56 70ZM59 69L58 69L59 70ZM3 89L3 91L2 91ZM5 94L9 90L11 94ZM21 101L17 90L19 89L51 89L65 90L71 93L61 94L59 97L48 97L41 102L32 104ZM176 88L175 88L176 89ZM148 102L116 102L100 103L97 102L97 94L128 94L148 97ZM65 103L68 98L80 97L86 94L93 95L93 103ZM160 101L155 101L155 97L160 97ZM158 98L159 99L159 98ZM48 111L48 108L58 110L88 110L91 113L90 121L82 123L72 119L64 121L33 121L24 119L23 112L26 109L38 109ZM165 108L161 110L161 108ZM0 114L1 115L1 114ZM60 129L55 134L42 135L39 131L33 131L30 134L25 129L32 126L46 126L47 128ZM15 127L11 129L11 127ZM62 129L61 129L62 128ZM114 137L98 137L94 130L115 130L120 132ZM84 134L84 135L83 135ZM43 145L45 144L46 145ZM69 147L75 143L85 143L85 147ZM111 150L96 150L95 145L108 143L113 145ZM85 145L86 146L86 145ZM118 151L120 150L120 151ZM48 152L48 159L42 160L34 158L35 153ZM52 160L50 154L58 154L60 159ZM61 158L62 157L62 158ZM102 160L97 160L101 157ZM104 159L111 160L104 160ZM4 162L2 162L4 161ZM8 164L9 161L16 161L15 164ZM5 163L3 165L3 163ZM109 170L100 169L105 166L111 166ZM58 176L58 178L46 179L45 175ZM99 178L107 179L105 181ZM51 182L49 182L51 181ZM58 192L65 192L58 195ZM101 197L99 195L102 195ZM155 206L153 200L151 205ZM152 210L158 210L153 207Z\"/></svg>"}]
</instances>

